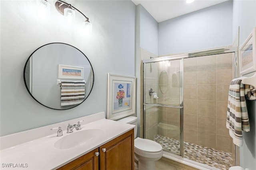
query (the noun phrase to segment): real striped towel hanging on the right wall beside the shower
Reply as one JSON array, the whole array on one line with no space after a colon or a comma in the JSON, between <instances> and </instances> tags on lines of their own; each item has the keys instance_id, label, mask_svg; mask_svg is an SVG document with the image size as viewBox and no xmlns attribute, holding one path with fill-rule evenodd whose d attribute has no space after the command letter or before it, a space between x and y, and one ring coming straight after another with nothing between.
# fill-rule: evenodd
<instances>
[{"instance_id":1,"label":"real striped towel hanging on the right wall beside the shower","mask_svg":"<svg viewBox=\"0 0 256 170\"><path fill-rule=\"evenodd\" d=\"M242 78L233 79L228 91L228 111L226 127L233 143L239 147L243 145L242 131L250 131L248 112L244 97Z\"/></svg>"}]
</instances>

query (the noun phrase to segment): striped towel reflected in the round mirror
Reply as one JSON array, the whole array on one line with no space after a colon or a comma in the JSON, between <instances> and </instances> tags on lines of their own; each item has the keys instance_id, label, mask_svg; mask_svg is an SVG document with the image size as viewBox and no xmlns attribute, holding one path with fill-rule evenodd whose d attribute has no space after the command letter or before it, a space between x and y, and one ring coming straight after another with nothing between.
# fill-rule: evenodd
<instances>
[{"instance_id":1,"label":"striped towel reflected in the round mirror","mask_svg":"<svg viewBox=\"0 0 256 170\"><path fill-rule=\"evenodd\" d=\"M60 106L80 104L85 98L85 81L61 81Z\"/></svg>"}]
</instances>

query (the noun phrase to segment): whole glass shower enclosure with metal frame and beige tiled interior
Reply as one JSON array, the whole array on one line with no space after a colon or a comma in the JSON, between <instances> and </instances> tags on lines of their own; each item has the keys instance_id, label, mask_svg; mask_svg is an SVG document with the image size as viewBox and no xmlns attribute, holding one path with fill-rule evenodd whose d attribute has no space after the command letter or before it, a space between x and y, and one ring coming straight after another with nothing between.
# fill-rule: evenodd
<instances>
[{"instance_id":1,"label":"whole glass shower enclosure with metal frame and beige tiled interior","mask_svg":"<svg viewBox=\"0 0 256 170\"><path fill-rule=\"evenodd\" d=\"M225 127L235 56L228 50L144 60L144 138L162 145L166 154L218 169L235 165Z\"/></svg>"}]
</instances>

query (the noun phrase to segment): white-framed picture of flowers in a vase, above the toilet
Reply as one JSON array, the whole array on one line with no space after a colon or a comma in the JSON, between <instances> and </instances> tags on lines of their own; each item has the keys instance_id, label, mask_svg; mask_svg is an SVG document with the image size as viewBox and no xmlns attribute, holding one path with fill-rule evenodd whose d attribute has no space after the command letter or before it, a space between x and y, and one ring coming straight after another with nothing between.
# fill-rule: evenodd
<instances>
[{"instance_id":1,"label":"white-framed picture of flowers in a vase, above the toilet","mask_svg":"<svg viewBox=\"0 0 256 170\"><path fill-rule=\"evenodd\" d=\"M108 119L135 113L135 77L108 73Z\"/></svg>"}]
</instances>

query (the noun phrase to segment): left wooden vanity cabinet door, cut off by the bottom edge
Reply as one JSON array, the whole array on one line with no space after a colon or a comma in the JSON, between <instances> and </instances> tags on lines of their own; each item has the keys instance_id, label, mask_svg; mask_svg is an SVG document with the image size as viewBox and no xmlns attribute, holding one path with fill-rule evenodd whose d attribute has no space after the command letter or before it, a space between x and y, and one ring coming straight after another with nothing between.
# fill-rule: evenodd
<instances>
[{"instance_id":1,"label":"left wooden vanity cabinet door, cut off by the bottom edge","mask_svg":"<svg viewBox=\"0 0 256 170\"><path fill-rule=\"evenodd\" d=\"M98 170L99 157L95 155L98 148L58 168L58 170Z\"/></svg>"}]
</instances>

